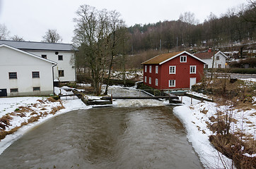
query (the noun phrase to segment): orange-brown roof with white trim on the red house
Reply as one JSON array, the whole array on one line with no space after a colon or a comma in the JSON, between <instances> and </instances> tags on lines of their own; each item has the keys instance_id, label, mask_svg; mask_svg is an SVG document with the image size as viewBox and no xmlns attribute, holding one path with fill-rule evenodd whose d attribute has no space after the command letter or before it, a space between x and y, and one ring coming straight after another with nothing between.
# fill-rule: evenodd
<instances>
[{"instance_id":1,"label":"orange-brown roof with white trim on the red house","mask_svg":"<svg viewBox=\"0 0 256 169\"><path fill-rule=\"evenodd\" d=\"M173 58L176 58L182 54L188 54L190 56L192 56L193 58L196 58L199 61L202 61L200 58L197 58L196 56L188 53L187 51L176 51L176 52L171 52L171 53L167 53L167 54L160 54L158 56L155 56L153 58L150 58L148 61L144 61L143 63L141 63L141 65L149 65L149 64L163 64L167 61L170 61ZM202 63L206 64L204 61L202 61Z\"/></svg>"}]
</instances>

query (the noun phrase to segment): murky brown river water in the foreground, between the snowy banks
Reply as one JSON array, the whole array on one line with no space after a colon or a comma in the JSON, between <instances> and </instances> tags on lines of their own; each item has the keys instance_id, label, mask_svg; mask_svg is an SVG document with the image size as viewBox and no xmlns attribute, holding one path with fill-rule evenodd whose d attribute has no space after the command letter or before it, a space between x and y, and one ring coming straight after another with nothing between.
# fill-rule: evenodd
<instances>
[{"instance_id":1,"label":"murky brown river water in the foreground, between the snowy banks","mask_svg":"<svg viewBox=\"0 0 256 169\"><path fill-rule=\"evenodd\" d=\"M168 106L92 108L35 127L0 156L0 168L202 168Z\"/></svg>"}]
</instances>

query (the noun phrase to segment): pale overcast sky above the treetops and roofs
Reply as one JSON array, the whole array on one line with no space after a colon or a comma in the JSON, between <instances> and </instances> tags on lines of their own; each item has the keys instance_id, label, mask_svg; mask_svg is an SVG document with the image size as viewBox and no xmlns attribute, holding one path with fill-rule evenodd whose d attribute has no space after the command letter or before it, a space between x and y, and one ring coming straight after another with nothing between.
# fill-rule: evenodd
<instances>
[{"instance_id":1,"label":"pale overcast sky above the treetops and roofs","mask_svg":"<svg viewBox=\"0 0 256 169\"><path fill-rule=\"evenodd\" d=\"M48 29L55 29L63 43L71 43L76 11L88 4L97 9L116 10L127 26L178 20L180 13L190 11L202 23L212 12L218 17L228 8L247 4L247 0L0 0L0 24L10 35L26 41L42 41Z\"/></svg>"}]
</instances>

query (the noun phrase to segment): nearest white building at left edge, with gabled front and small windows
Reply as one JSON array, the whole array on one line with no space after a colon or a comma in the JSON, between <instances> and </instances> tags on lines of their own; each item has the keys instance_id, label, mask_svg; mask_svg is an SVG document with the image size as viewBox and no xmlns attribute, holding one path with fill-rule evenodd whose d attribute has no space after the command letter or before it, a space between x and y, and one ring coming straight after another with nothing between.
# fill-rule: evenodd
<instances>
[{"instance_id":1,"label":"nearest white building at left edge, with gabled front and small windows","mask_svg":"<svg viewBox=\"0 0 256 169\"><path fill-rule=\"evenodd\" d=\"M53 94L56 65L54 61L0 44L0 96Z\"/></svg>"}]
</instances>

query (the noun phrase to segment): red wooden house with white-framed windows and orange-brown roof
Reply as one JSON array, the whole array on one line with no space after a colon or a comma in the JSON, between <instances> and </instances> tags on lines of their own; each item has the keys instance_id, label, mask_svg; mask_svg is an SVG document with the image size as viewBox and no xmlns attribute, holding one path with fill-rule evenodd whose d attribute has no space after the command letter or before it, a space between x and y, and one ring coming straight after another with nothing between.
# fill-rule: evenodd
<instances>
[{"instance_id":1,"label":"red wooden house with white-framed windows and orange-brown roof","mask_svg":"<svg viewBox=\"0 0 256 169\"><path fill-rule=\"evenodd\" d=\"M191 89L204 76L204 61L187 51L155 56L144 63L144 84L155 89Z\"/></svg>"}]
</instances>

